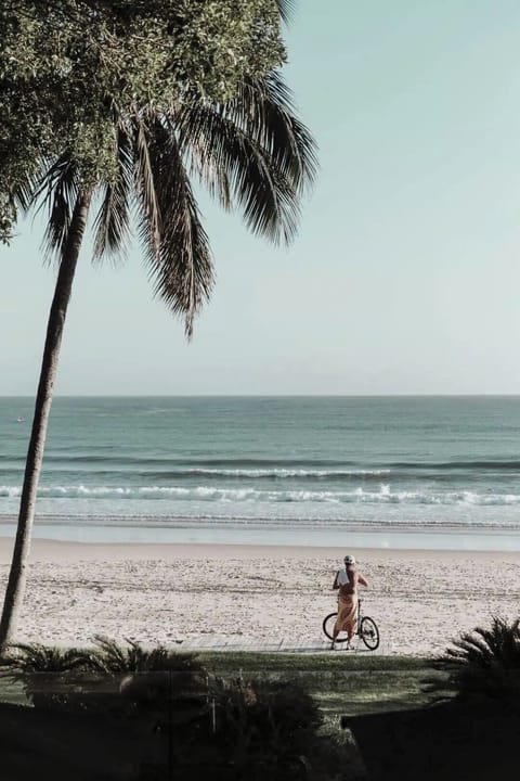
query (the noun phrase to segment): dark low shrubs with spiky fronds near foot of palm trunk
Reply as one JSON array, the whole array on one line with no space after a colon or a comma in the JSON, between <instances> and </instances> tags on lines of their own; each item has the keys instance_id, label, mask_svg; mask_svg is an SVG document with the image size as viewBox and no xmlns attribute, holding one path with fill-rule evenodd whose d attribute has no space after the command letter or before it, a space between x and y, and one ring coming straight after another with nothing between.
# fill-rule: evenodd
<instances>
[{"instance_id":1,"label":"dark low shrubs with spiky fronds near foot of palm trunk","mask_svg":"<svg viewBox=\"0 0 520 781\"><path fill-rule=\"evenodd\" d=\"M322 731L320 708L298 680L223 679L193 655L105 637L84 650L12 646L2 666L37 709L81 716L81 730L84 719L103 719L107 743L113 732L127 734L135 779L172 769L193 779L208 768L222 781L351 778L350 753Z\"/></svg>"}]
</instances>

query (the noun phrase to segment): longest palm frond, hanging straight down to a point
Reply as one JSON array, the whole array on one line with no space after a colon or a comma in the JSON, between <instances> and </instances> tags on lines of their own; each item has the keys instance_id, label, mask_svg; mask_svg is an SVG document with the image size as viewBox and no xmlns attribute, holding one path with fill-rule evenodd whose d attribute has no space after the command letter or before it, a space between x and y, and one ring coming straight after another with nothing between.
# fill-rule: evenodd
<instances>
[{"instance_id":1,"label":"longest palm frond, hanging straight down to a point","mask_svg":"<svg viewBox=\"0 0 520 781\"><path fill-rule=\"evenodd\" d=\"M148 139L151 170L160 215L158 241L141 208L140 236L147 249L155 294L184 318L186 335L213 286L208 236L178 146L174 128L156 117ZM141 202L142 203L142 202Z\"/></svg>"}]
</instances>

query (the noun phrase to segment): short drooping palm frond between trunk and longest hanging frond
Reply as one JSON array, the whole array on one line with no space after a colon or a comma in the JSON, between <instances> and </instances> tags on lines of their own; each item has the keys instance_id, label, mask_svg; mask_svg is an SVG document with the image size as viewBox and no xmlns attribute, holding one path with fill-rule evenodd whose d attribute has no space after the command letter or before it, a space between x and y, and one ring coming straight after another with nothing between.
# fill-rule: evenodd
<instances>
[{"instance_id":1,"label":"short drooping palm frond between trunk and longest hanging frond","mask_svg":"<svg viewBox=\"0 0 520 781\"><path fill-rule=\"evenodd\" d=\"M116 177L103 188L94 220L94 258L125 254L130 234L130 203L133 187L132 136L121 121L115 139Z\"/></svg>"}]
</instances>

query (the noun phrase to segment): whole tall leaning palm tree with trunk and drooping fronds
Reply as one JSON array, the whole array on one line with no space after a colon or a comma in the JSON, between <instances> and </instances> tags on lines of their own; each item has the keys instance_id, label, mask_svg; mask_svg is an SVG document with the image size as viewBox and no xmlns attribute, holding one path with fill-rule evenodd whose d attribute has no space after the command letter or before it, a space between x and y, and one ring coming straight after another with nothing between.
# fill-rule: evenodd
<instances>
[{"instance_id":1,"label":"whole tall leaning palm tree with trunk and drooping fronds","mask_svg":"<svg viewBox=\"0 0 520 781\"><path fill-rule=\"evenodd\" d=\"M282 3L284 4L284 3ZM49 316L27 451L16 539L0 623L0 648L13 637L22 606L32 521L60 345L76 264L92 204L100 200L94 258L125 251L136 222L155 293L184 318L186 335L213 285L208 236L192 180L224 209L238 207L246 225L274 244L296 231L299 204L316 172L315 144L295 116L278 72L245 80L230 102L184 97L168 110L133 106L114 121L114 175L91 184L67 151L41 161L37 176L14 193L27 210L49 204L46 245L60 268Z\"/></svg>"}]
</instances>

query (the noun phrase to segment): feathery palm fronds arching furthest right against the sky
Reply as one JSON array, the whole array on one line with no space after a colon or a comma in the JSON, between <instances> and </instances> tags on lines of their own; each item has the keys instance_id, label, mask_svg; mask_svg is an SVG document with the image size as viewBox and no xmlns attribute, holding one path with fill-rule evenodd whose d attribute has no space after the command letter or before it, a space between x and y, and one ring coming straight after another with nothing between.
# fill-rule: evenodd
<instances>
[{"instance_id":1,"label":"feathery palm fronds arching furthest right against the sky","mask_svg":"<svg viewBox=\"0 0 520 781\"><path fill-rule=\"evenodd\" d=\"M315 143L294 116L280 74L245 82L229 104L191 101L173 121L183 155L210 193L224 207L232 193L253 233L289 243L317 165Z\"/></svg>"}]
</instances>

